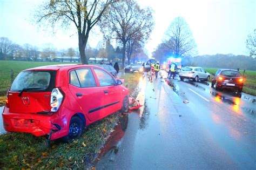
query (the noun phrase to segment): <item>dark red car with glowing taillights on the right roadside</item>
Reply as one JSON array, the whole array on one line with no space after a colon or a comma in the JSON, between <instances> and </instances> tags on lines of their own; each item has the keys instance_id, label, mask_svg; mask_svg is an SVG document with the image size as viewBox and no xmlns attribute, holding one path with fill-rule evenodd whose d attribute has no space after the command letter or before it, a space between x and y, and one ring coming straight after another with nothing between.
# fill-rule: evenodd
<instances>
[{"instance_id":1,"label":"dark red car with glowing taillights on the right roadside","mask_svg":"<svg viewBox=\"0 0 256 170\"><path fill-rule=\"evenodd\" d=\"M219 69L212 78L212 87L216 90L232 89L241 93L244 81L237 70Z\"/></svg>"}]
</instances>

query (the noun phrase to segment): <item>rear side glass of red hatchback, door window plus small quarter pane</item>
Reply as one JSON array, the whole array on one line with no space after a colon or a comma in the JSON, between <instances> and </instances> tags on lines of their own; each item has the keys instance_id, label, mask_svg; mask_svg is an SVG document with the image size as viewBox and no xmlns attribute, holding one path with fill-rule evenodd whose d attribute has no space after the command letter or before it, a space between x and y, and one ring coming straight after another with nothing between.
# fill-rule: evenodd
<instances>
[{"instance_id":1,"label":"rear side glass of red hatchback, door window plus small quarter pane","mask_svg":"<svg viewBox=\"0 0 256 170\"><path fill-rule=\"evenodd\" d=\"M96 87L91 69L77 69L70 72L70 84L78 87Z\"/></svg>"}]
</instances>

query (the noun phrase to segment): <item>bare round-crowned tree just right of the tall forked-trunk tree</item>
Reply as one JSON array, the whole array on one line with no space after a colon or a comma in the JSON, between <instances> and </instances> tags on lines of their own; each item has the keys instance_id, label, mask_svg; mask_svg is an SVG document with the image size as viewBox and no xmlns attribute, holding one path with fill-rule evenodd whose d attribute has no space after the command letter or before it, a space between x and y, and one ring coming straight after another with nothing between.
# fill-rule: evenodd
<instances>
[{"instance_id":1,"label":"bare round-crowned tree just right of the tall forked-trunk tree","mask_svg":"<svg viewBox=\"0 0 256 170\"><path fill-rule=\"evenodd\" d=\"M122 67L125 63L126 43L130 39L148 39L153 26L152 9L141 9L134 0L111 4L100 22L104 36L116 39L123 45Z\"/></svg>"}]
</instances>

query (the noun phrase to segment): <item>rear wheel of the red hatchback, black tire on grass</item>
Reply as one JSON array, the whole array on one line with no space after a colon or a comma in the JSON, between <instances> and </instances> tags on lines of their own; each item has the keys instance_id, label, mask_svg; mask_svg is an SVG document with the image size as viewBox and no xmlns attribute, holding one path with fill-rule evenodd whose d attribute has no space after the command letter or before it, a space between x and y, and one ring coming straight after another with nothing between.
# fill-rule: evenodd
<instances>
[{"instance_id":1,"label":"rear wheel of the red hatchback, black tire on grass","mask_svg":"<svg viewBox=\"0 0 256 170\"><path fill-rule=\"evenodd\" d=\"M74 116L71 118L69 123L69 134L62 138L64 142L71 142L81 137L84 129L83 120L79 117Z\"/></svg>"}]
</instances>

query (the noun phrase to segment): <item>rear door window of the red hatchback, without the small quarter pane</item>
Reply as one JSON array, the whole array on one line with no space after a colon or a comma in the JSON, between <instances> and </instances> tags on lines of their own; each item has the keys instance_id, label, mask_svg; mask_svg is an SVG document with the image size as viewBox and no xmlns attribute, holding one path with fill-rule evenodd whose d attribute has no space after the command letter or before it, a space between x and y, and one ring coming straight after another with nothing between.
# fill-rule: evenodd
<instances>
[{"instance_id":1,"label":"rear door window of the red hatchback, without the small quarter pane","mask_svg":"<svg viewBox=\"0 0 256 170\"><path fill-rule=\"evenodd\" d=\"M77 69L76 70L81 87L96 87L96 81L93 77L91 69Z\"/></svg>"}]
</instances>

